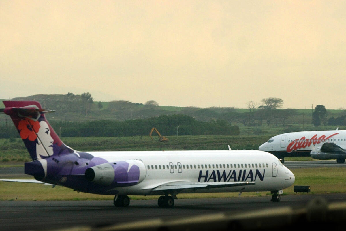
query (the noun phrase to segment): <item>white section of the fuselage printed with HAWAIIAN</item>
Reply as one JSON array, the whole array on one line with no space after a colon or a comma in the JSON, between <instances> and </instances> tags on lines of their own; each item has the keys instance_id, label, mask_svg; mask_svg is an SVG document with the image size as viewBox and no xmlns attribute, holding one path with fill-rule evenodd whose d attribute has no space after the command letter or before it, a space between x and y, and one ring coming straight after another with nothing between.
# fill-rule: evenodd
<instances>
[{"instance_id":1,"label":"white section of the fuselage printed with HAWAIIAN","mask_svg":"<svg viewBox=\"0 0 346 231\"><path fill-rule=\"evenodd\" d=\"M109 162L140 160L146 173L142 182L117 187L119 194L161 195L152 189L174 182L239 182L254 185L199 189L183 189L179 193L195 192L256 192L287 188L294 183L293 173L274 155L258 150L213 151L117 151L88 152Z\"/></svg>"}]
</instances>

